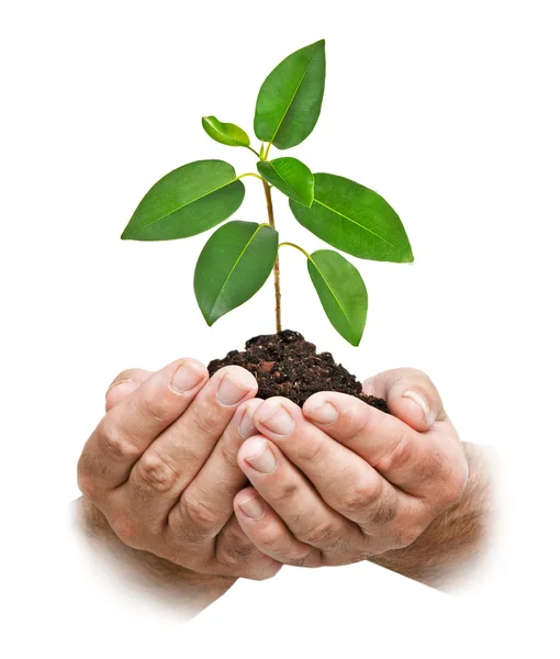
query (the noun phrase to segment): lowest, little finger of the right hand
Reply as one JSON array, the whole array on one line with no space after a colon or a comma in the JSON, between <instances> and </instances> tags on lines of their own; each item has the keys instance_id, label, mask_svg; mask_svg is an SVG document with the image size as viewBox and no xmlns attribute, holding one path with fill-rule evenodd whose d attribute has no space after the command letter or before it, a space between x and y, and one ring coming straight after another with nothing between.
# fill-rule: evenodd
<instances>
[{"instance_id":1,"label":"lowest, little finger of the right hand","mask_svg":"<svg viewBox=\"0 0 560 659\"><path fill-rule=\"evenodd\" d=\"M295 538L254 488L237 494L234 512L245 535L262 554L289 566L314 568L321 565L320 550Z\"/></svg>"}]
</instances>

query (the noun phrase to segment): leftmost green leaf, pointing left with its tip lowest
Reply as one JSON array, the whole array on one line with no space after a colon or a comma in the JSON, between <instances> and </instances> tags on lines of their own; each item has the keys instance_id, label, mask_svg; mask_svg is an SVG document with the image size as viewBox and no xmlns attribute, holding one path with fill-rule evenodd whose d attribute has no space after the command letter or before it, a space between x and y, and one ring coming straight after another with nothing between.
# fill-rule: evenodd
<instances>
[{"instance_id":1,"label":"leftmost green leaf, pointing left with its tip lowest","mask_svg":"<svg viewBox=\"0 0 560 659\"><path fill-rule=\"evenodd\" d=\"M160 179L139 202L121 238L187 238L227 220L242 205L245 186L223 160L197 160Z\"/></svg>"}]
</instances>

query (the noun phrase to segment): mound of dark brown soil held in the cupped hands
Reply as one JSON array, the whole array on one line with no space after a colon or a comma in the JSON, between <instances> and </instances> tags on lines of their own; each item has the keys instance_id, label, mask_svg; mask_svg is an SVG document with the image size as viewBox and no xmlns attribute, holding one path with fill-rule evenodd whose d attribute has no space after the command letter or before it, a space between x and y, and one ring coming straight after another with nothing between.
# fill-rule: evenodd
<instances>
[{"instance_id":1,"label":"mound of dark brown soil held in the cupped hands","mask_svg":"<svg viewBox=\"0 0 560 659\"><path fill-rule=\"evenodd\" d=\"M368 405L389 413L383 399L362 393L361 382L331 353L320 353L316 346L299 332L283 330L278 334L255 336L245 344L245 350L232 350L223 359L209 364L212 376L224 366L242 366L257 379L258 396L267 399L283 395L298 405L317 391L340 391L362 400Z\"/></svg>"}]
</instances>

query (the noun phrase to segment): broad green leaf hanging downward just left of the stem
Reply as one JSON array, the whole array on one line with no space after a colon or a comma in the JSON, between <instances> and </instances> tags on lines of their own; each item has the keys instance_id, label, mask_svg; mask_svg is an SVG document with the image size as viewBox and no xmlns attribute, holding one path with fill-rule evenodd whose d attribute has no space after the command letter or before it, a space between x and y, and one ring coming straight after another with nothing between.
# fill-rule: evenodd
<instances>
[{"instance_id":1,"label":"broad green leaf hanging downward just left of the stem","mask_svg":"<svg viewBox=\"0 0 560 659\"><path fill-rule=\"evenodd\" d=\"M209 325L253 298L277 254L278 233L268 224L228 222L212 234L194 270L194 294Z\"/></svg>"}]
</instances>

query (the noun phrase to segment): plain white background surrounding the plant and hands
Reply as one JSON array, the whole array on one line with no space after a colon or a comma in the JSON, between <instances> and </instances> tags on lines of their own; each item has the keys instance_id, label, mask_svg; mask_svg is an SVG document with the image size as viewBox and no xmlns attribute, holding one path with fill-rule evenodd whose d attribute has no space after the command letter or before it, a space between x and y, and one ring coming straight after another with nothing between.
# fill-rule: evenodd
<instances>
[{"instance_id":1,"label":"plain white background surrounding the plant and hands","mask_svg":"<svg viewBox=\"0 0 560 659\"><path fill-rule=\"evenodd\" d=\"M224 656L280 646L293 657L343 647L557 656L558 4L1 7L5 656L195 656L199 644ZM250 131L266 75L322 37L323 112L293 153L385 197L416 261L355 260L370 293L356 349L324 317L301 255L287 250L285 326L360 378L426 370L461 437L501 455L501 541L484 579L455 599L372 566L348 569L347 580L287 571L278 583L245 584L220 603L229 602L227 614L216 605L200 617L199 632L214 615L204 640L194 623L168 619L142 597L123 608L114 589L97 589L68 532L67 502L112 378L181 356L208 360L272 332L271 283L208 330L192 292L208 234L160 244L119 236L146 190L179 165L215 157L251 170L253 155L210 141L200 118ZM260 222L260 186L245 182L236 217ZM282 239L321 247L276 199ZM305 651L295 630L306 633Z\"/></svg>"}]
</instances>

